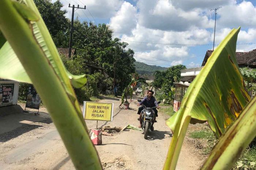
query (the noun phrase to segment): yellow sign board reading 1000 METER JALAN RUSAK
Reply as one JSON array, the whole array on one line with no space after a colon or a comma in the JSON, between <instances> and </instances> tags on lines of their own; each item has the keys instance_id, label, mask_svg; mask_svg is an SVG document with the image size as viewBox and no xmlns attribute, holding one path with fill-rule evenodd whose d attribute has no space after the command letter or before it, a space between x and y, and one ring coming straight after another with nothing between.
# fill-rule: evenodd
<instances>
[{"instance_id":1,"label":"yellow sign board reading 1000 METER JALAN RUSAK","mask_svg":"<svg viewBox=\"0 0 256 170\"><path fill-rule=\"evenodd\" d=\"M112 121L114 103L83 102L85 120Z\"/></svg>"}]
</instances>

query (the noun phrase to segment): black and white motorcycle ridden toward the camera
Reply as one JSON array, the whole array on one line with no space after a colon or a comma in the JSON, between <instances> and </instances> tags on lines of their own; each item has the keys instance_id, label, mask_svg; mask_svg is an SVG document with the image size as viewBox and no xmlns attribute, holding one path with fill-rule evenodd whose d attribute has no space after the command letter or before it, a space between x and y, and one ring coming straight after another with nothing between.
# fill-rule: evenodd
<instances>
[{"instance_id":1,"label":"black and white motorcycle ridden toward the camera","mask_svg":"<svg viewBox=\"0 0 256 170\"><path fill-rule=\"evenodd\" d=\"M141 100L138 100L138 102L141 102ZM161 101L157 103L159 104ZM151 131L152 121L155 119L155 112L153 108L156 107L146 107L144 104L142 104L142 106L142 130L144 130L144 139L147 139L148 132Z\"/></svg>"}]
</instances>

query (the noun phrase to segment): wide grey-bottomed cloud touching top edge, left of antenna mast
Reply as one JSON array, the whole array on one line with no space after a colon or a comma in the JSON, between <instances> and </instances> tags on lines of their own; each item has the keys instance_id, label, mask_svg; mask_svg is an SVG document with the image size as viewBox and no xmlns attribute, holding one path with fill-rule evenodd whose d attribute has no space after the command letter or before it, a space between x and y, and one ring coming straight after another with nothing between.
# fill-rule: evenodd
<instances>
[{"instance_id":1,"label":"wide grey-bottomed cloud touching top edge, left of antenna mast","mask_svg":"<svg viewBox=\"0 0 256 170\"><path fill-rule=\"evenodd\" d=\"M212 20L203 15L202 10L186 12L175 8L171 1L143 1L137 3L139 12L139 24L151 29L163 31L186 31L192 27L208 28L212 26Z\"/></svg>"}]
</instances>

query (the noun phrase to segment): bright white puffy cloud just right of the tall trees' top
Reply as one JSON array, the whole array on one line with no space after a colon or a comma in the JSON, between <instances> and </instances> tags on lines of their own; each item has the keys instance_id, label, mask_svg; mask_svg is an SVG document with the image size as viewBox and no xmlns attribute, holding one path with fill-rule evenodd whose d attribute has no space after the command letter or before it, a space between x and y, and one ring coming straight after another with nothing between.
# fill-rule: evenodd
<instances>
[{"instance_id":1,"label":"bright white puffy cloud just right of the tall trees' top","mask_svg":"<svg viewBox=\"0 0 256 170\"><path fill-rule=\"evenodd\" d=\"M114 29L115 35L130 35L136 27L137 9L132 4L124 2L120 10L110 18L110 28Z\"/></svg>"}]
</instances>

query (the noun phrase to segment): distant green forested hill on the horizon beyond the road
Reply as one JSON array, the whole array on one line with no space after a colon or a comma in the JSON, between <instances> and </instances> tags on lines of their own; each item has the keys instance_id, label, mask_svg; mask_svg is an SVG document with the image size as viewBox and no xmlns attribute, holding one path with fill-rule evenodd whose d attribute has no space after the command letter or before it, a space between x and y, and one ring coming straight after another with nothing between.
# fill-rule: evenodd
<instances>
[{"instance_id":1,"label":"distant green forested hill on the horizon beyond the road","mask_svg":"<svg viewBox=\"0 0 256 170\"><path fill-rule=\"evenodd\" d=\"M148 65L141 62L135 62L135 68L136 72L138 72L140 76L148 79L153 79L153 74L156 70L167 70L167 67Z\"/></svg>"}]
</instances>

